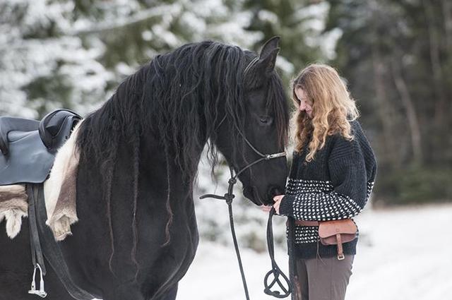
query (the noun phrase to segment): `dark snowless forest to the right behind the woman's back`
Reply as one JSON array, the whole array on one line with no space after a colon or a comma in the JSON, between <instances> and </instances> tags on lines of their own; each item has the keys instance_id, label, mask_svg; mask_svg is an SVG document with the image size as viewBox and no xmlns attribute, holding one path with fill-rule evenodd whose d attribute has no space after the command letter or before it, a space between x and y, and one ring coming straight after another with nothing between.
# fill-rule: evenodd
<instances>
[{"instance_id":1,"label":"dark snowless forest to the right behind the woman's back","mask_svg":"<svg viewBox=\"0 0 452 300\"><path fill-rule=\"evenodd\" d=\"M350 80L385 174L377 198L452 198L450 4L328 2L326 30L342 32L333 64Z\"/></svg>"}]
</instances>

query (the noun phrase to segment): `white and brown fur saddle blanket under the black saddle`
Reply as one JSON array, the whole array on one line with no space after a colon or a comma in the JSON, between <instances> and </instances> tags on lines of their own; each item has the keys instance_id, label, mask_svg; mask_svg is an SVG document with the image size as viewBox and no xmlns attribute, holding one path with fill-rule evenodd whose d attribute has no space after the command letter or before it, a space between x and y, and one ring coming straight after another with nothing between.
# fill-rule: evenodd
<instances>
[{"instance_id":1,"label":"white and brown fur saddle blanket under the black saddle","mask_svg":"<svg viewBox=\"0 0 452 300\"><path fill-rule=\"evenodd\" d=\"M76 212L76 181L79 153L76 139L79 122L71 137L58 150L49 179L44 181L47 210L46 224L57 241L72 234L71 224L78 221ZM0 186L0 223L6 221L6 234L13 239L20 232L22 217L28 216L28 195L25 185Z\"/></svg>"}]
</instances>

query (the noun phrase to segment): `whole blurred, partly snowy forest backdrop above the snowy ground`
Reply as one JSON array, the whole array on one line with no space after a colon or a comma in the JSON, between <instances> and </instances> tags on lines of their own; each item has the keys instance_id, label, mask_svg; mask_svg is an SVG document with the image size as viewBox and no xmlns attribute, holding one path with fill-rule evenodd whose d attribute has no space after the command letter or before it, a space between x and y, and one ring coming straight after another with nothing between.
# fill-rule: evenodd
<instances>
[{"instance_id":1,"label":"whole blurred, partly snowy forest backdrop above the snowy ground","mask_svg":"<svg viewBox=\"0 0 452 300\"><path fill-rule=\"evenodd\" d=\"M3 0L0 115L86 114L157 53L274 35L287 86L311 62L347 80L379 161L373 205L452 200L450 0Z\"/></svg>"}]
</instances>

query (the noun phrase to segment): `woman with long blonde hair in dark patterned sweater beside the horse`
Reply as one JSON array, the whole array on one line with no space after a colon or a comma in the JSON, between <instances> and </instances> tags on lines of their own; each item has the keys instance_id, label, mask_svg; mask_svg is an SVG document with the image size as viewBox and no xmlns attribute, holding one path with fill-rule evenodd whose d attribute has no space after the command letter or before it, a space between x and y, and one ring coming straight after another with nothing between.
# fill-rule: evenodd
<instances>
[{"instance_id":1,"label":"woman with long blonde hair in dark patterned sweater beside the horse","mask_svg":"<svg viewBox=\"0 0 452 300\"><path fill-rule=\"evenodd\" d=\"M295 222L296 299L343 300L357 238L343 244L344 258L338 259L336 245L319 243L318 222L361 212L374 186L375 155L357 121L355 101L334 68L304 68L293 80L292 97L295 152L286 194L275 196L273 206L278 214L303 221Z\"/></svg>"}]
</instances>

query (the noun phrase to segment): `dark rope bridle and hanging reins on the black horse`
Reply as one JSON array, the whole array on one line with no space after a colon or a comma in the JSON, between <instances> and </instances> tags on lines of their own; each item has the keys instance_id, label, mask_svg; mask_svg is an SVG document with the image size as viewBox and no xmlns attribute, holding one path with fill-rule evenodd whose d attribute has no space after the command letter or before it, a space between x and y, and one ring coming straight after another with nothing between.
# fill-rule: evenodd
<instances>
[{"instance_id":1,"label":"dark rope bridle and hanging reins on the black horse","mask_svg":"<svg viewBox=\"0 0 452 300\"><path fill-rule=\"evenodd\" d=\"M244 73L246 73L246 71L248 71L249 68L251 68L251 66L256 63L256 61L258 61L258 58L251 61L251 63L245 68ZM227 119L227 114L222 118L222 120L216 127L216 130L218 130L218 128L220 128L220 126L223 124L223 122L226 119ZM274 154L263 154L262 152L258 151L249 142L249 140L246 138L246 136L244 136L242 131L239 130L237 124L235 122L233 122L233 124L234 124L235 128L237 129L237 131L239 132L239 135L242 136L242 138L244 139L245 143L247 145L249 145L249 148L251 148L251 150L253 150L258 156L260 156L260 158L258 158L257 160L254 160L254 162L246 164L246 166L243 167L242 169L240 169L239 172L237 172L236 174L234 174L234 168L230 164L228 164L231 176L230 176L230 179L227 181L227 183L229 184L229 186L227 188L227 193L225 193L225 195L223 195L223 196L219 196L219 195L215 195L215 194L205 194L199 198L200 199L214 198L214 199L226 201L227 208L229 211L229 220L230 220L232 241L234 241L235 253L237 255L237 261L239 263L240 275L242 275L242 282L243 282L246 300L249 300L248 287L246 286L246 279L245 279L243 265L242 265L242 258L240 257L239 246L237 244L237 236L235 235L235 229L234 229L234 217L232 214L232 200L235 197L234 184L237 184L237 178L238 178L239 174L242 174L242 172L244 172L246 169L249 169L250 167L254 166L254 164L258 164L259 162L263 162L263 161L272 160L272 159L278 158L278 157L285 157L286 154L285 154L285 152L278 152L278 153L274 153ZM268 271L266 276L264 277L265 289L263 290L263 292L265 292L266 294L268 294L270 296L275 296L276 298L285 298L285 297L289 296L290 293L292 292L292 284L290 284L290 280L283 273L283 271L280 270L280 268L278 267L278 265L275 262L275 257L274 257L275 251L274 251L274 245L273 245L273 228L272 228L272 217L274 214L275 214L275 208L272 208L268 215L268 223L267 223L267 246L268 246L268 254L270 256L272 269L270 271ZM268 280L270 279L270 275L273 275L273 280L270 283L268 283ZM287 288L280 281L280 279L279 279L280 275L283 277L283 280L285 280L285 282L287 284ZM271 290L271 288L275 284L278 284L280 289L283 291L283 294L281 294L281 292L279 292L277 290L275 290L275 291Z\"/></svg>"}]
</instances>

